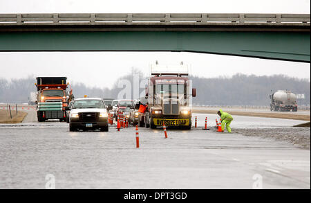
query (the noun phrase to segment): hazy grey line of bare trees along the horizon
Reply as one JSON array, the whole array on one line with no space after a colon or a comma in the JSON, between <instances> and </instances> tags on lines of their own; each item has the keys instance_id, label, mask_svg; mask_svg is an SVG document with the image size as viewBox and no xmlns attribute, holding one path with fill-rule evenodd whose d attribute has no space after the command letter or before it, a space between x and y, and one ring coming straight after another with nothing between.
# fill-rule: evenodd
<instances>
[{"instance_id":1,"label":"hazy grey line of bare trees along the horizon","mask_svg":"<svg viewBox=\"0 0 311 203\"><path fill-rule=\"evenodd\" d=\"M133 98L133 76L140 82L147 79L137 69L118 78L113 87L87 87L81 82L73 82L75 98L87 95L89 97L117 98L124 86L120 81L127 80L131 84L130 98ZM247 76L238 73L232 77L202 78L189 77L193 87L197 89L197 96L193 103L197 105L269 105L269 95L279 89L291 90L294 94L304 94L304 99L299 99L300 105L310 105L310 81L308 79L292 78L284 75L274 76ZM70 76L68 76L70 79ZM31 91L36 91L35 77L6 80L0 78L0 103L28 103ZM119 84L118 84L119 83ZM144 91L140 85L140 93Z\"/></svg>"}]
</instances>

